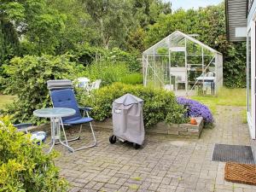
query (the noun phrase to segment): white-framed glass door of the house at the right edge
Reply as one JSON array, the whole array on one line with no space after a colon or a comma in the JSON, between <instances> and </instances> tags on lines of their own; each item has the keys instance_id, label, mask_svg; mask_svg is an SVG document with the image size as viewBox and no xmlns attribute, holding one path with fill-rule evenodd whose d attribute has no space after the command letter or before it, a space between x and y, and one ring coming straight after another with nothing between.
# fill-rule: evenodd
<instances>
[{"instance_id":1,"label":"white-framed glass door of the house at the right edge","mask_svg":"<svg viewBox=\"0 0 256 192\"><path fill-rule=\"evenodd\" d=\"M248 26L247 30L247 123L249 126L250 134L255 139L255 22L251 22L251 26Z\"/></svg>"}]
</instances>

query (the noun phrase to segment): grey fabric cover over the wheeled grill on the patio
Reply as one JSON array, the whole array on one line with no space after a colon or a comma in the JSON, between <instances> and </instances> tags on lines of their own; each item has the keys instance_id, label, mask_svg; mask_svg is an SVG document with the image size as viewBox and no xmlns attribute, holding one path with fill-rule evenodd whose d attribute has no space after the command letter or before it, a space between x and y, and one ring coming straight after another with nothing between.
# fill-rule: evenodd
<instances>
[{"instance_id":1,"label":"grey fabric cover over the wheeled grill on the patio","mask_svg":"<svg viewBox=\"0 0 256 192\"><path fill-rule=\"evenodd\" d=\"M143 144L143 100L125 94L113 102L113 135L131 143Z\"/></svg>"}]
</instances>

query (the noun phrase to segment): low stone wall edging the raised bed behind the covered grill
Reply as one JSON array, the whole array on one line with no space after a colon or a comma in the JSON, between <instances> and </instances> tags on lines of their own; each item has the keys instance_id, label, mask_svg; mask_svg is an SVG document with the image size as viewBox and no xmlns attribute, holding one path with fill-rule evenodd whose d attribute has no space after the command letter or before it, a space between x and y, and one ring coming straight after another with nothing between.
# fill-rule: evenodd
<instances>
[{"instance_id":1,"label":"low stone wall edging the raised bed behind the covered grill","mask_svg":"<svg viewBox=\"0 0 256 192\"><path fill-rule=\"evenodd\" d=\"M146 129L147 133L165 134L173 135L178 137L200 137L201 131L204 126L204 121L201 117L196 118L197 125L190 124L166 124L165 122L160 122ZM95 121L92 123L93 127L96 129L103 130L113 130L112 119L106 119L102 122Z\"/></svg>"}]
</instances>

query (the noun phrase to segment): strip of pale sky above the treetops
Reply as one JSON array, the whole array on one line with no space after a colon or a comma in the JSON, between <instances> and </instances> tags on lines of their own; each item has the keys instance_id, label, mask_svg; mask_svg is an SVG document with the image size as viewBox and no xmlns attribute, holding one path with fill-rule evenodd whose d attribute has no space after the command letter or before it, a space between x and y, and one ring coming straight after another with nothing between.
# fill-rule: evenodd
<instances>
[{"instance_id":1,"label":"strip of pale sky above the treetops","mask_svg":"<svg viewBox=\"0 0 256 192\"><path fill-rule=\"evenodd\" d=\"M172 9L177 10L183 9L198 9L199 7L207 7L207 5L216 5L221 3L223 0L165 0L166 2L172 3Z\"/></svg>"}]
</instances>

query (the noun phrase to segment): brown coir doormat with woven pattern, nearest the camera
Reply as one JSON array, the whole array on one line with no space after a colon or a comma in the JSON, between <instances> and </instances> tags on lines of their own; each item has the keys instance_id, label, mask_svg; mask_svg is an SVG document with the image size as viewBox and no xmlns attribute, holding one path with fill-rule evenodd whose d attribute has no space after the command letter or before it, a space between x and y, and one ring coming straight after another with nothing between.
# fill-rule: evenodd
<instances>
[{"instance_id":1,"label":"brown coir doormat with woven pattern, nearest the camera","mask_svg":"<svg viewBox=\"0 0 256 192\"><path fill-rule=\"evenodd\" d=\"M224 179L234 183L256 185L256 166L228 162Z\"/></svg>"}]
</instances>

